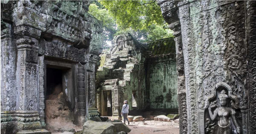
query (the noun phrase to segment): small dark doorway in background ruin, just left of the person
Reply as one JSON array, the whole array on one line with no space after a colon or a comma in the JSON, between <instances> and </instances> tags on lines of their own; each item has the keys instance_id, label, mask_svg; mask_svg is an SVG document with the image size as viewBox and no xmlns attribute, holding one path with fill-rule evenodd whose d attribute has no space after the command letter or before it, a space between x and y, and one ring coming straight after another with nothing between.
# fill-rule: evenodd
<instances>
[{"instance_id":1,"label":"small dark doorway in background ruin, just left of the person","mask_svg":"<svg viewBox=\"0 0 256 134\"><path fill-rule=\"evenodd\" d=\"M102 90L102 116L112 116L112 90Z\"/></svg>"}]
</instances>

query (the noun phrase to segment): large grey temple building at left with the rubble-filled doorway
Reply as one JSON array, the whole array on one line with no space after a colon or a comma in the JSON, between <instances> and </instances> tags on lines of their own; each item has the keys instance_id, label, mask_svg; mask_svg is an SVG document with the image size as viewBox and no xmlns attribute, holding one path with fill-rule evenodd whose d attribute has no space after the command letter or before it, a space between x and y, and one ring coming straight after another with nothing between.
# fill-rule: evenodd
<instances>
[{"instance_id":1,"label":"large grey temple building at left with the rubble-filled doorway","mask_svg":"<svg viewBox=\"0 0 256 134\"><path fill-rule=\"evenodd\" d=\"M89 4L1 1L1 133L48 128L56 116L81 126L98 115L102 25Z\"/></svg>"}]
</instances>

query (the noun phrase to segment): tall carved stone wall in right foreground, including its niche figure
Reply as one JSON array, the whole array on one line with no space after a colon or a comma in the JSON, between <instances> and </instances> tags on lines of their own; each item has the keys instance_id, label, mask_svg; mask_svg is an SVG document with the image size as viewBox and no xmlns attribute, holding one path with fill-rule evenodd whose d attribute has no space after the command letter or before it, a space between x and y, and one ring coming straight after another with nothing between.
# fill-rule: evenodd
<instances>
[{"instance_id":1,"label":"tall carved stone wall in right foreground, including its niche figure","mask_svg":"<svg viewBox=\"0 0 256 134\"><path fill-rule=\"evenodd\" d=\"M180 133L256 133L256 1L158 4L174 30Z\"/></svg>"}]
</instances>

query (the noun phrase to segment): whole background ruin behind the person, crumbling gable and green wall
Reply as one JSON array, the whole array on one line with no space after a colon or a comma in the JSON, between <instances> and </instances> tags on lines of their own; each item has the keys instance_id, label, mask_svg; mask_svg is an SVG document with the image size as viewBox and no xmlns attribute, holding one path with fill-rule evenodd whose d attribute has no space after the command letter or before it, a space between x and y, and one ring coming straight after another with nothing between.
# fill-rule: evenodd
<instances>
[{"instance_id":1,"label":"whole background ruin behind the person, crumbling gable and green wall","mask_svg":"<svg viewBox=\"0 0 256 134\"><path fill-rule=\"evenodd\" d=\"M130 34L116 36L110 51L101 55L96 74L96 106L101 115L120 119L124 100L130 113L178 113L175 55L173 38L142 44Z\"/></svg>"}]
</instances>

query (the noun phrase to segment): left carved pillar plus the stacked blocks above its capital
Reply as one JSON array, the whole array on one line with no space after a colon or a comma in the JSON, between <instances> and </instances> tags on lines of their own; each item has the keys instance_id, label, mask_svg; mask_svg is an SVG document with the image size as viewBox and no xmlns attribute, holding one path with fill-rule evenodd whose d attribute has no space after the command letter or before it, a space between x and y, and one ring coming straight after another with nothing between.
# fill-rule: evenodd
<instances>
[{"instance_id":1,"label":"left carved pillar plus the stacked blocks above its capital","mask_svg":"<svg viewBox=\"0 0 256 134\"><path fill-rule=\"evenodd\" d=\"M17 130L42 128L39 118L38 40L46 30L46 15L30 1L17 2L14 34L17 48ZM32 16L33 14L33 16Z\"/></svg>"}]
</instances>

